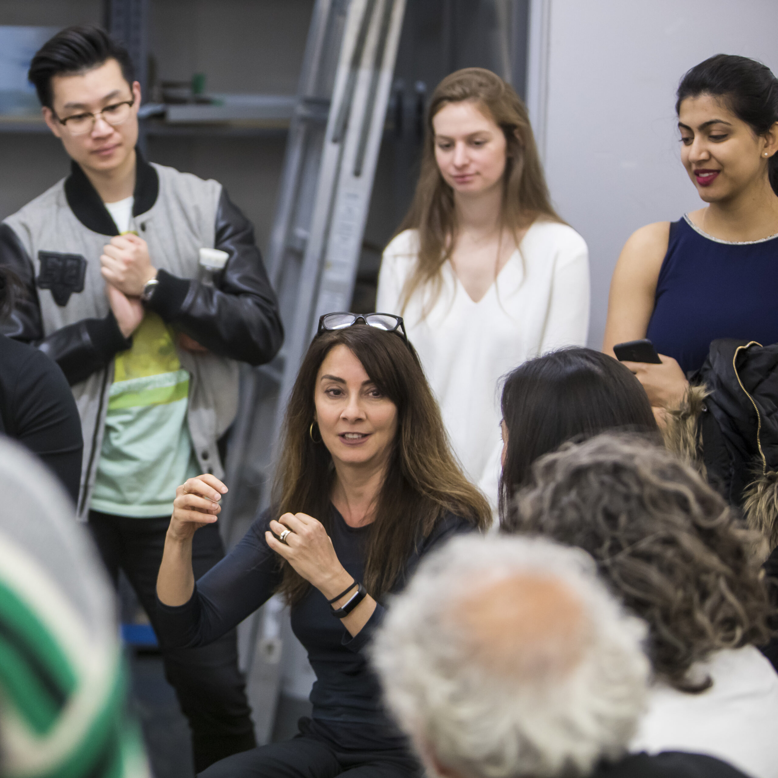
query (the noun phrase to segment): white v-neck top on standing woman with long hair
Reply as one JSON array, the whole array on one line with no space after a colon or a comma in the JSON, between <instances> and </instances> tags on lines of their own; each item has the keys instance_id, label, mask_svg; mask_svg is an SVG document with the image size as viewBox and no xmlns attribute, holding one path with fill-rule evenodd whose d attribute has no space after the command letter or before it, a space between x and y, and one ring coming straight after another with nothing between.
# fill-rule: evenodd
<instances>
[{"instance_id":1,"label":"white v-neck top on standing woman with long hair","mask_svg":"<svg viewBox=\"0 0 778 778\"><path fill-rule=\"evenodd\" d=\"M422 317L430 286L405 311L402 289L418 258L416 230L384 251L376 310L400 314L466 475L492 503L502 440L499 379L527 359L566 345L585 345L589 327L589 252L572 227L535 222L481 300L465 291L454 268L442 268L440 296Z\"/></svg>"}]
</instances>

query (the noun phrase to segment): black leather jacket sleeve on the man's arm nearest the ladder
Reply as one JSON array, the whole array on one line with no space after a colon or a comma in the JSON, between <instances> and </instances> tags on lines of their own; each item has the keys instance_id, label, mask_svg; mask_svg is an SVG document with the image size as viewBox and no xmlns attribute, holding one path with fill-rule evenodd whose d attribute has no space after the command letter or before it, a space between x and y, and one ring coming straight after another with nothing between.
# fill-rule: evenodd
<instances>
[{"instance_id":1,"label":"black leather jacket sleeve on the man's arm nearest the ladder","mask_svg":"<svg viewBox=\"0 0 778 778\"><path fill-rule=\"evenodd\" d=\"M215 247L230 254L216 288L160 270L149 308L220 356L250 365L269 362L283 342L278 301L254 228L224 190Z\"/></svg>"}]
</instances>

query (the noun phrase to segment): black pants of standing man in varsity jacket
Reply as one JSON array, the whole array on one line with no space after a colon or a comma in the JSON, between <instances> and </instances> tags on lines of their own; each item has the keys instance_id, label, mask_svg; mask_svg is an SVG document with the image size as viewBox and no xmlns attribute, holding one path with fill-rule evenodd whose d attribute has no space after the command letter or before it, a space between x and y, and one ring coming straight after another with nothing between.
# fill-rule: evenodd
<instances>
[{"instance_id":1,"label":"black pants of standing man in varsity jacket","mask_svg":"<svg viewBox=\"0 0 778 778\"><path fill-rule=\"evenodd\" d=\"M169 517L133 519L89 511L89 529L114 586L119 569L124 570L155 629L156 576L169 524ZM198 530L192 544L195 579L223 556L216 524ZM163 661L165 677L189 720L196 772L257 745L234 629L202 648L163 649Z\"/></svg>"}]
</instances>

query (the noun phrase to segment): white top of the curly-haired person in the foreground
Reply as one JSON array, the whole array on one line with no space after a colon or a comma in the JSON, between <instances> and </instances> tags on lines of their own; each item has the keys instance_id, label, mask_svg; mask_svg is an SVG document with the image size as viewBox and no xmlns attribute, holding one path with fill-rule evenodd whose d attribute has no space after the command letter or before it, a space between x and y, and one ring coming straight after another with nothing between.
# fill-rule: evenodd
<instances>
[{"instance_id":1,"label":"white top of the curly-haired person in the foreground","mask_svg":"<svg viewBox=\"0 0 778 778\"><path fill-rule=\"evenodd\" d=\"M773 665L746 646L718 651L692 670L700 678L710 675L713 686L687 694L664 683L654 685L629 750L708 754L754 778L778 778L778 675Z\"/></svg>"}]
</instances>

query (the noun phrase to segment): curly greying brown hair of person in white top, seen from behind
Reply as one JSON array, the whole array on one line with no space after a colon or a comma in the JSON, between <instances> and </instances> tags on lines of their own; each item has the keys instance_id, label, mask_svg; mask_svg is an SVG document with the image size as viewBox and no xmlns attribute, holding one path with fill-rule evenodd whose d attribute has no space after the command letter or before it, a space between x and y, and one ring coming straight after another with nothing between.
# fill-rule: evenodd
<instances>
[{"instance_id":1,"label":"curly greying brown hair of person in white top, seen from behind","mask_svg":"<svg viewBox=\"0 0 778 778\"><path fill-rule=\"evenodd\" d=\"M772 634L755 534L696 471L641 436L605 433L538 459L502 530L589 552L648 622L655 674L681 691L713 683L690 678L695 662Z\"/></svg>"}]
</instances>

